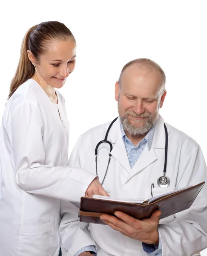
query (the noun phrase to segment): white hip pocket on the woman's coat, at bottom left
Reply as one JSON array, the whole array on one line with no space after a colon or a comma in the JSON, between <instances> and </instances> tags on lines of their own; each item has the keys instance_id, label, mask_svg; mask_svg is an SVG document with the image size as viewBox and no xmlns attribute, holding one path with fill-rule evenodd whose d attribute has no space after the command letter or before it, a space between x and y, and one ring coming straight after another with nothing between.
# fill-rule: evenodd
<instances>
[{"instance_id":1,"label":"white hip pocket on the woman's coat, at bottom left","mask_svg":"<svg viewBox=\"0 0 207 256\"><path fill-rule=\"evenodd\" d=\"M37 226L23 226L20 233L21 256L52 255L54 221Z\"/></svg>"}]
</instances>

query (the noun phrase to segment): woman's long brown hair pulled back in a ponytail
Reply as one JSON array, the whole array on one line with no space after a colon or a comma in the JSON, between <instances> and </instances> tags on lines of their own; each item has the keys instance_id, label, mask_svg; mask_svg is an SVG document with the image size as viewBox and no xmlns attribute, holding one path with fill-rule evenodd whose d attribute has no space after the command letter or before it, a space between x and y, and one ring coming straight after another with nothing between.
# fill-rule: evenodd
<instances>
[{"instance_id":1,"label":"woman's long brown hair pulled back in a ponytail","mask_svg":"<svg viewBox=\"0 0 207 256\"><path fill-rule=\"evenodd\" d=\"M22 42L20 60L16 73L11 80L9 98L21 84L30 79L35 73L35 67L28 58L27 50L30 50L35 59L39 61L40 55L46 52L51 40L66 41L68 39L75 42L71 31L58 21L42 22L29 29Z\"/></svg>"}]
</instances>

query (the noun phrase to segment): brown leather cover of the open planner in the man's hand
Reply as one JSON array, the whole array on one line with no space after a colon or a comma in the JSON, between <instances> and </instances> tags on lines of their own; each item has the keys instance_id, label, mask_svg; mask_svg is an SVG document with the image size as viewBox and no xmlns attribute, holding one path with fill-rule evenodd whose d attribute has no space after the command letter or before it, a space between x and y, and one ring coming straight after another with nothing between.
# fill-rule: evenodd
<instances>
[{"instance_id":1,"label":"brown leather cover of the open planner in the man's hand","mask_svg":"<svg viewBox=\"0 0 207 256\"><path fill-rule=\"evenodd\" d=\"M178 192L172 192L170 195L161 195L155 200L144 201L142 204L81 197L79 210L80 221L105 224L101 221L99 216L102 213L114 215L115 211L121 211L134 218L142 220L144 218L149 218L152 215L152 212L157 209L162 211L160 219L166 218L190 208L204 186L204 183L205 182L202 182L195 186L187 187Z\"/></svg>"}]
</instances>

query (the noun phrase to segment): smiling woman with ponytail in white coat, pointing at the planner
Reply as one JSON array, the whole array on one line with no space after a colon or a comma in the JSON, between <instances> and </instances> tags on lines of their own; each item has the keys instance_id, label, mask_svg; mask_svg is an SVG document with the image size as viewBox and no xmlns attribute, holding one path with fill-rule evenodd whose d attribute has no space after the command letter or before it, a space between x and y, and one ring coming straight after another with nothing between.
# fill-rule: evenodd
<instances>
[{"instance_id":1,"label":"smiling woman with ponytail in white coat, pointing at the planner","mask_svg":"<svg viewBox=\"0 0 207 256\"><path fill-rule=\"evenodd\" d=\"M55 89L74 70L75 51L59 22L33 26L23 40L0 129L1 256L58 256L60 199L106 194L95 175L67 166L69 127Z\"/></svg>"}]
</instances>

